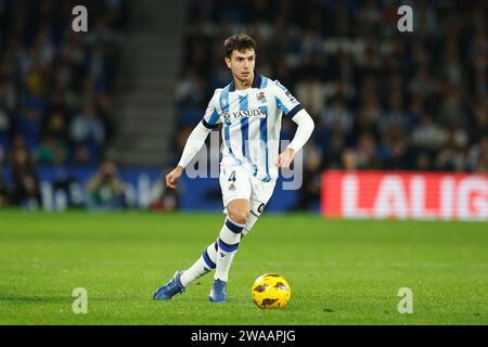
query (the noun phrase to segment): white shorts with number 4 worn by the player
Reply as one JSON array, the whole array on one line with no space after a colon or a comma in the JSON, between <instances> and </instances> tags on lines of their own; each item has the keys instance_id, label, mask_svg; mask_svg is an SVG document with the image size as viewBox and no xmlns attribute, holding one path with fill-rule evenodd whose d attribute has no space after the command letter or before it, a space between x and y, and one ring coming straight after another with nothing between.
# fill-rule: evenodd
<instances>
[{"instance_id":1,"label":"white shorts with number 4 worn by the player","mask_svg":"<svg viewBox=\"0 0 488 347\"><path fill-rule=\"evenodd\" d=\"M223 207L236 198L251 202L251 213L259 217L274 191L275 180L262 182L240 165L220 166L220 188ZM227 214L227 208L223 210Z\"/></svg>"}]
</instances>

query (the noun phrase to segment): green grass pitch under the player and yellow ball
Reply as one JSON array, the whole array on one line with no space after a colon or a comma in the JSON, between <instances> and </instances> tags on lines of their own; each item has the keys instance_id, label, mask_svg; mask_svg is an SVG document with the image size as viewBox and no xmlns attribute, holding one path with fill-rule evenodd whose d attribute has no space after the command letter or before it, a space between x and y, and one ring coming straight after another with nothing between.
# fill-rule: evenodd
<instances>
[{"instance_id":1,"label":"green grass pitch under the player and yellow ball","mask_svg":"<svg viewBox=\"0 0 488 347\"><path fill-rule=\"evenodd\" d=\"M211 274L152 299L215 240L221 214L0 211L0 324L487 324L488 224L264 215L234 258L228 303ZM251 285L282 274L292 299L260 310ZM75 287L88 313L75 314ZM413 292L400 314L398 290Z\"/></svg>"}]
</instances>

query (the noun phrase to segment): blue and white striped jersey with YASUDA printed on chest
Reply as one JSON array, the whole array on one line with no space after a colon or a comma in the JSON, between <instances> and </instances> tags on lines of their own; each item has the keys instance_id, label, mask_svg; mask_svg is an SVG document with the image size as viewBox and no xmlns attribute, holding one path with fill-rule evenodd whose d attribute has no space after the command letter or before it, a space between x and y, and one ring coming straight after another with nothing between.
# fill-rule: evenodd
<instances>
[{"instance_id":1,"label":"blue and white striped jersey with YASUDA printed on chest","mask_svg":"<svg viewBox=\"0 0 488 347\"><path fill-rule=\"evenodd\" d=\"M255 74L252 88L235 90L232 81L215 90L203 125L222 124L222 165L242 165L259 180L278 178L281 117L304 108L278 80Z\"/></svg>"}]
</instances>

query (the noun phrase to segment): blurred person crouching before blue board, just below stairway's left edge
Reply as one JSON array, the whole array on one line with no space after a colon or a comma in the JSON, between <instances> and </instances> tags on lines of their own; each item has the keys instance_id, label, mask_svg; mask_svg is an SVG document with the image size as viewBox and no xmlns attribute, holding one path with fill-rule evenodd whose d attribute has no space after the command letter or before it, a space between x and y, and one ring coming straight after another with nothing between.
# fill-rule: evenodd
<instances>
[{"instance_id":1,"label":"blurred person crouching before blue board, just below stairway's left edge","mask_svg":"<svg viewBox=\"0 0 488 347\"><path fill-rule=\"evenodd\" d=\"M126 207L125 184L117 166L111 160L101 164L99 171L87 182L88 207L119 209Z\"/></svg>"}]
</instances>

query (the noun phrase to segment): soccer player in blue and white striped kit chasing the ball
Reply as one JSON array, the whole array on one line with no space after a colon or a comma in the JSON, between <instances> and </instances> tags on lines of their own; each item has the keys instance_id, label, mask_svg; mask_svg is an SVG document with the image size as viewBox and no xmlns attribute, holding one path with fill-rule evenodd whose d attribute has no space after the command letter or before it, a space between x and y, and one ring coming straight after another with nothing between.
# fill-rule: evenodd
<instances>
[{"instance_id":1,"label":"soccer player in blue and white striped kit chasing the ball","mask_svg":"<svg viewBox=\"0 0 488 347\"><path fill-rule=\"evenodd\" d=\"M166 176L166 184L177 188L184 167L205 143L208 133L222 124L220 187L226 221L217 241L187 270L177 271L154 294L170 299L196 279L215 269L209 294L213 303L224 303L229 269L243 235L248 233L270 200L279 168L288 168L296 152L310 138L313 120L301 104L278 80L255 72L256 42L245 34L226 39L224 62L232 81L218 88L202 121L190 134L178 166ZM298 127L286 150L279 154L282 115Z\"/></svg>"}]
</instances>

